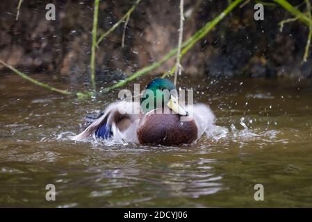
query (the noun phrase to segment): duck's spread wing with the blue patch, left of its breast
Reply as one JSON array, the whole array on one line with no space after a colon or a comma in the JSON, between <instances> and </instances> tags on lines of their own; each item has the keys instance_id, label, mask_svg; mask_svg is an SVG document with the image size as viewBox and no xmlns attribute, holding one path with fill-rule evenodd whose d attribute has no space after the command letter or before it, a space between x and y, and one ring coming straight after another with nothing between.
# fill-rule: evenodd
<instances>
[{"instance_id":1,"label":"duck's spread wing with the blue patch, left of its breast","mask_svg":"<svg viewBox=\"0 0 312 222\"><path fill-rule=\"evenodd\" d=\"M140 104L119 101L106 108L104 114L96 119L82 133L73 137L81 141L95 135L103 139L124 139L127 142L137 142L136 129L140 121Z\"/></svg>"}]
</instances>

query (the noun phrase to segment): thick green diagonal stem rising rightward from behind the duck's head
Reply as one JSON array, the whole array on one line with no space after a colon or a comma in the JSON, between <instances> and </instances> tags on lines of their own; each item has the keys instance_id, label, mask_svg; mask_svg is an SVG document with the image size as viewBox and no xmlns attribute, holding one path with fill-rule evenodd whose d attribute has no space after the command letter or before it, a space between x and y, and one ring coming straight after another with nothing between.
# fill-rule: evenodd
<instances>
[{"instance_id":1,"label":"thick green diagonal stem rising rightward from behind the duck's head","mask_svg":"<svg viewBox=\"0 0 312 222\"><path fill-rule=\"evenodd\" d=\"M211 29L218 24L225 16L231 12L236 6L238 6L239 3L241 3L243 0L235 0L231 5L229 5L223 12L220 13L215 19L213 19L211 22L207 22L199 31L197 31L194 35L192 35L188 40L183 42L181 45L181 48L186 47L186 49L183 49L181 51L181 56L185 54L196 42L201 40ZM163 65L164 62L172 58L174 55L176 55L176 52L178 51L177 48L172 49L169 53L167 53L161 60L158 60L158 62L154 62L153 64L149 65L148 67L144 67L138 71L136 71L134 74L132 74L129 78L126 78L124 80L121 80L120 82L110 86L106 87L103 92L108 92L112 89L116 89L118 87L122 87L129 83L131 80L134 80L138 78L139 76L146 75L149 73L149 71L152 71L161 65Z\"/></svg>"}]
</instances>

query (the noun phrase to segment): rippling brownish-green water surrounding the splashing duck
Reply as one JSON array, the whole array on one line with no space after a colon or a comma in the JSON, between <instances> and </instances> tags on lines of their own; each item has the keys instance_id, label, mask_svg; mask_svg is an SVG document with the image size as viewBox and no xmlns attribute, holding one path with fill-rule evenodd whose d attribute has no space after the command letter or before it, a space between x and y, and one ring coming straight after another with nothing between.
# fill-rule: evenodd
<instances>
[{"instance_id":1,"label":"rippling brownish-green water surrounding the splashing duck","mask_svg":"<svg viewBox=\"0 0 312 222\"><path fill-rule=\"evenodd\" d=\"M162 147L69 139L116 92L79 101L1 76L0 206L312 207L311 81L192 81L181 86L198 89L195 101L211 105L223 130L194 146ZM264 201L254 200L258 183ZM45 200L47 184L56 201Z\"/></svg>"}]
</instances>

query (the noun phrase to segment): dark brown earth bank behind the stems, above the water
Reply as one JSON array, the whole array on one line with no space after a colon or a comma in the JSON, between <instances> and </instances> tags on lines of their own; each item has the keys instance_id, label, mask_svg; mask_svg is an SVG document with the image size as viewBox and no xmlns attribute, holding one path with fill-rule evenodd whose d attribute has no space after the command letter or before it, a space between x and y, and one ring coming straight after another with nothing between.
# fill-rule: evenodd
<instances>
[{"instance_id":1,"label":"dark brown earth bank behind the stems, above the water","mask_svg":"<svg viewBox=\"0 0 312 222\"><path fill-rule=\"evenodd\" d=\"M47 3L56 6L56 21L47 21ZM99 35L129 10L134 1L100 1ZM291 1L304 12L302 1ZM0 2L0 59L26 74L42 72L72 79L89 76L93 1L23 1L15 21L18 1ZM308 28L291 22L279 31L279 22L292 17L274 4L265 6L264 21L254 20L254 1L234 9L183 57L190 76L247 76L311 78L312 56L302 64ZM229 1L186 0L183 39L220 14ZM161 59L177 46L179 1L142 0L124 23L101 42L96 53L97 72L131 74ZM151 74L174 65L170 60ZM0 66L0 69L5 69Z\"/></svg>"}]
</instances>

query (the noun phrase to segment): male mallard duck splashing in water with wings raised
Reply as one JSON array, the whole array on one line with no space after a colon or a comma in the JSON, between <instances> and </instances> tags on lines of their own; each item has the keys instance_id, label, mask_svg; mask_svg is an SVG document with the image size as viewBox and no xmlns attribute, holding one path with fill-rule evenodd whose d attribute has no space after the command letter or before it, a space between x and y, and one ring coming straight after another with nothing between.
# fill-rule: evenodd
<instances>
[{"instance_id":1,"label":"male mallard duck splashing in water with wings raised","mask_svg":"<svg viewBox=\"0 0 312 222\"><path fill-rule=\"evenodd\" d=\"M79 141L95 136L172 146L192 144L203 133L209 135L213 130L215 116L211 109L204 104L193 105L189 110L189 106L181 106L172 93L176 87L170 80L156 78L146 89L149 90L145 90L140 103L117 101L108 105L101 117L73 139ZM164 89L170 93L166 94ZM153 94L147 96L150 92ZM188 121L181 121L181 117Z\"/></svg>"}]
</instances>

